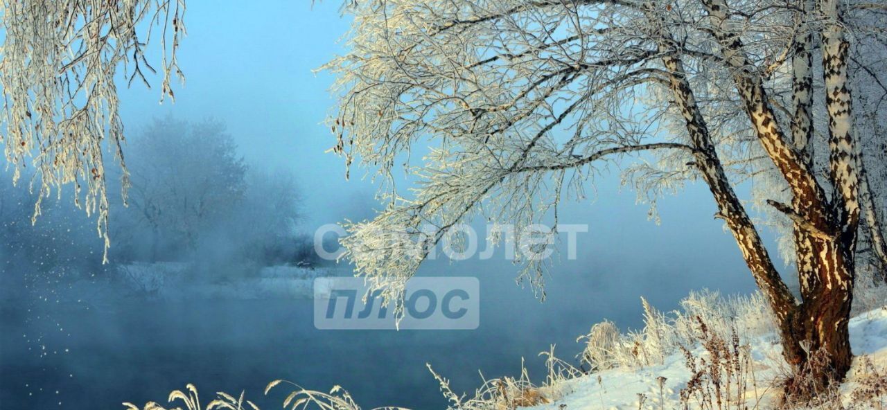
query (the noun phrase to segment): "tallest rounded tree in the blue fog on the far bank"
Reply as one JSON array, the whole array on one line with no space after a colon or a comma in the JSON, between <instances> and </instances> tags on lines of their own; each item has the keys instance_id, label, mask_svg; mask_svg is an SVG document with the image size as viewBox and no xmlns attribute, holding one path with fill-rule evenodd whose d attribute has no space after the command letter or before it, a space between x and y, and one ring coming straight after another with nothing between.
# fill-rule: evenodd
<instances>
[{"instance_id":1,"label":"tallest rounded tree in the blue fog on the far bank","mask_svg":"<svg viewBox=\"0 0 887 410\"><path fill-rule=\"evenodd\" d=\"M194 250L200 233L231 216L247 189L247 166L220 122L154 120L130 141L128 217L161 243Z\"/></svg>"}]
</instances>

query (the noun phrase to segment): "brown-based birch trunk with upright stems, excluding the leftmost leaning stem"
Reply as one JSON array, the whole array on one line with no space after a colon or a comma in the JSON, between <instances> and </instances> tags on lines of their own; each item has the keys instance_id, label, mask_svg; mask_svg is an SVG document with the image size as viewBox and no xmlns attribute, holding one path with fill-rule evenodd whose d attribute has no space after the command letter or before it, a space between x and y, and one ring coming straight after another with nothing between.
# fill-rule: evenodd
<instances>
[{"instance_id":1,"label":"brown-based birch trunk with upright stems, excluding the leftmost leaning stem","mask_svg":"<svg viewBox=\"0 0 887 410\"><path fill-rule=\"evenodd\" d=\"M852 305L860 204L859 161L851 134L851 95L847 88L848 47L838 23L836 0L820 5L821 12L828 16L820 35L829 117L829 178L834 187L830 201L813 176L806 146L812 135L809 110L812 32L804 29L806 25L802 27L793 57L796 109L791 123L793 144L789 144L770 106L762 76L747 59L740 36L731 31L726 3L723 0L703 0L703 3L724 59L732 67L734 83L752 128L792 193L791 206L770 201L794 222L801 284L799 304L771 302L779 320L783 355L802 374L812 374L817 384L841 381L852 360L847 323ZM805 7L810 4L805 2ZM773 294L773 288L761 290L771 301L779 297ZM812 355L824 355L826 366L803 366L811 363Z\"/></svg>"}]
</instances>

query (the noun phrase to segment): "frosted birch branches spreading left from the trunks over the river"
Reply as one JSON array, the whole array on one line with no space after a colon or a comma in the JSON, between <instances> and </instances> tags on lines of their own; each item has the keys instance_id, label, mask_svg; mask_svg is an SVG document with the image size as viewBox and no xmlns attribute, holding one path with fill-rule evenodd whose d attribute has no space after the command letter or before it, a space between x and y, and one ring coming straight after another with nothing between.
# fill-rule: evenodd
<instances>
[{"instance_id":1,"label":"frosted birch branches spreading left from the trunks over the river","mask_svg":"<svg viewBox=\"0 0 887 410\"><path fill-rule=\"evenodd\" d=\"M398 289L424 257L389 246L378 232L433 246L483 208L519 234L561 193L584 196L600 163L641 151L687 154L688 146L656 138L661 113L624 109L623 101L643 98L639 87L666 75L650 64L659 52L643 47L638 28L608 23L616 16L600 4L417 5L357 5L354 52L327 66L346 91L333 127L336 150L349 162L357 156L390 176L400 153L433 147L410 170L420 181L414 198L386 190L389 209L348 226L344 244L364 255L354 258L358 272L377 285ZM586 7L600 16L589 17ZM593 20L612 27L592 28ZM421 224L436 234L422 233ZM541 261L524 262L522 277L540 285Z\"/></svg>"}]
</instances>

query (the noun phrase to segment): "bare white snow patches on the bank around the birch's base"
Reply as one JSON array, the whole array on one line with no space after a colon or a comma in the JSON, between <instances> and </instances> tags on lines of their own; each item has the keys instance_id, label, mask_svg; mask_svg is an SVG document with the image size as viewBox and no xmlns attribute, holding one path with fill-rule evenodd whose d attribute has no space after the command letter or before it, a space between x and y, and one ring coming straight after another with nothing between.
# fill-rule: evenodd
<instances>
[{"instance_id":1,"label":"bare white snow patches on the bank around the birch's base","mask_svg":"<svg viewBox=\"0 0 887 410\"><path fill-rule=\"evenodd\" d=\"M887 306L867 311L850 321L854 359L848 381L842 386L847 402L860 377L867 374L866 359L875 368L887 368ZM774 335L762 335L750 342L754 359L756 382L748 387L748 408L767 409L775 406L777 387L770 384L781 372L781 346ZM695 357L704 357L702 347L693 351ZM615 368L597 374L566 380L550 389L553 396L561 396L533 409L677 409L684 408L680 390L687 387L691 372L687 359L681 353L671 354L663 364L641 369ZM664 377L665 379L661 379ZM660 390L660 382L662 389ZM640 403L642 401L642 403ZM691 401L691 407L696 406Z\"/></svg>"}]
</instances>

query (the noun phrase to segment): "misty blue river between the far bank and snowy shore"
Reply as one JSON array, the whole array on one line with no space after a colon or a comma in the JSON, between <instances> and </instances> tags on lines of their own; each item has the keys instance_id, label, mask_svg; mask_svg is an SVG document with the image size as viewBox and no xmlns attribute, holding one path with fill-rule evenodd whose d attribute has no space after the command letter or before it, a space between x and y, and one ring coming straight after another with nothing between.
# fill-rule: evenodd
<instances>
[{"instance_id":1,"label":"misty blue river between the far bank and snowy shore","mask_svg":"<svg viewBox=\"0 0 887 410\"><path fill-rule=\"evenodd\" d=\"M204 403L216 391L246 390L247 399L274 408L287 392L266 398L264 386L285 379L311 390L341 385L364 408L444 408L426 363L469 396L482 383L479 371L487 379L517 376L522 358L533 382L541 382L545 359L538 353L552 343L557 357L577 364L577 336L593 323L606 318L642 327L639 296L655 294L652 304L672 309L693 280L636 272L648 278L638 286L629 273L590 275L570 267L551 275L540 303L529 288L515 286L511 264L445 264L431 274L490 272L474 275L481 284L480 327L412 331L318 330L307 298L156 298L117 292L102 280L73 287L52 280L40 290L16 291L21 284L9 283L16 276L7 274L0 292L0 407L165 406L169 391L191 382Z\"/></svg>"}]
</instances>

